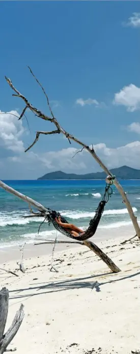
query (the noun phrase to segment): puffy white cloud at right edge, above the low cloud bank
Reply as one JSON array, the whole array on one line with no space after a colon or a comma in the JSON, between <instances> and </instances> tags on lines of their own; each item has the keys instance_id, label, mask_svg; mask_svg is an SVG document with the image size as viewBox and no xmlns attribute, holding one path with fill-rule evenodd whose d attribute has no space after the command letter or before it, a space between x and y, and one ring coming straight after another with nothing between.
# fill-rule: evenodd
<instances>
[{"instance_id":1,"label":"puffy white cloud at right edge, above the low cloud bank","mask_svg":"<svg viewBox=\"0 0 140 354\"><path fill-rule=\"evenodd\" d=\"M132 83L124 86L120 92L115 94L113 103L125 106L129 112L140 109L140 88Z\"/></svg>"}]
</instances>

